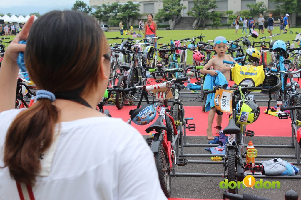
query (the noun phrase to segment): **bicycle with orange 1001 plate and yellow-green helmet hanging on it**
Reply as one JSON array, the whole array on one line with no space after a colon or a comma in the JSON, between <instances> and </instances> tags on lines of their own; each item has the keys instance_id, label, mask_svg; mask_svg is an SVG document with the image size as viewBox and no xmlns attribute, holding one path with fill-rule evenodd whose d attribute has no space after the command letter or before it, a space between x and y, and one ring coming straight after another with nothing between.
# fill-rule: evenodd
<instances>
[{"instance_id":1,"label":"bicycle with orange 1001 plate and yellow-green helmet hanging on it","mask_svg":"<svg viewBox=\"0 0 301 200\"><path fill-rule=\"evenodd\" d=\"M204 91L204 94L215 93L218 89L222 87L216 87L213 90ZM233 90L231 97L225 96L222 93L221 103L222 106L228 106L230 104L225 104L230 98L232 99L231 107L232 107L232 114L229 119L229 124L227 127L224 128L223 133L230 134L228 138L228 143L225 145L225 157L224 157L224 177L228 179L228 181L243 181L244 179L244 135L246 136L254 136L254 132L251 130L246 130L246 124L248 123L250 112L241 111L239 117L237 118L237 113L239 112L236 109L236 104L239 102L247 102L250 106L254 106L253 102L251 101L244 101L245 96L247 96L247 91L250 90L260 90L262 91L262 87L241 87L239 86L238 89ZM240 98L242 101L239 101ZM230 102L230 101L229 101ZM253 104L251 104L251 103ZM239 103L240 105L240 103ZM255 104L256 105L256 104ZM240 108L243 105L240 105ZM256 105L257 106L257 105ZM229 108L231 108L229 107ZM257 106L258 107L258 106ZM255 121L259 116L259 107L255 108L254 117L256 117L253 121ZM226 161L228 161L226 163ZM237 194L237 188L229 189L230 193Z\"/></svg>"}]
</instances>

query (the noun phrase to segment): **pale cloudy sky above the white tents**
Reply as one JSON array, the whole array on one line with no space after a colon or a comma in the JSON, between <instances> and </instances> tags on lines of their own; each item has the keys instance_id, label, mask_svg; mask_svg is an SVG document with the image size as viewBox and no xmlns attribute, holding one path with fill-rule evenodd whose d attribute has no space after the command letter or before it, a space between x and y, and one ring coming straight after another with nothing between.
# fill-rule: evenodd
<instances>
[{"instance_id":1,"label":"pale cloudy sky above the white tents","mask_svg":"<svg viewBox=\"0 0 301 200\"><path fill-rule=\"evenodd\" d=\"M1 2L2 0L0 0ZM39 12L44 14L51 10L71 9L76 0L10 0L2 3L0 12L15 15ZM89 5L89 0L81 0Z\"/></svg>"}]
</instances>

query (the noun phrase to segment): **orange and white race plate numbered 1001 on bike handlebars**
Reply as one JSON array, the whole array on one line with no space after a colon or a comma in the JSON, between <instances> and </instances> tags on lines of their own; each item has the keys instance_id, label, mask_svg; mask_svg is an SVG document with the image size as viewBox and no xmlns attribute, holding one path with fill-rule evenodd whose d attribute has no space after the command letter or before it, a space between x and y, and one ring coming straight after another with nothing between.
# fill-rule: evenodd
<instances>
[{"instance_id":1,"label":"orange and white race plate numbered 1001 on bike handlebars","mask_svg":"<svg viewBox=\"0 0 301 200\"><path fill-rule=\"evenodd\" d=\"M232 113L232 91L217 89L214 104L217 110Z\"/></svg>"}]
</instances>

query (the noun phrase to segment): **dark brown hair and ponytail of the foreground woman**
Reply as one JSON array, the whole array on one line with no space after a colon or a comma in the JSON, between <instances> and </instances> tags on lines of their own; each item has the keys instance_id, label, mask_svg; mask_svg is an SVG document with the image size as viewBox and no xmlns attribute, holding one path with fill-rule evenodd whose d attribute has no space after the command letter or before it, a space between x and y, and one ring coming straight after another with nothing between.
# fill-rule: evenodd
<instances>
[{"instance_id":1,"label":"dark brown hair and ponytail of the foreground woman","mask_svg":"<svg viewBox=\"0 0 301 200\"><path fill-rule=\"evenodd\" d=\"M107 41L100 26L84 13L51 11L30 29L24 60L39 89L76 96L98 83ZM20 112L8 129L4 167L17 182L33 185L41 170L39 155L51 146L60 110L40 99Z\"/></svg>"}]
</instances>

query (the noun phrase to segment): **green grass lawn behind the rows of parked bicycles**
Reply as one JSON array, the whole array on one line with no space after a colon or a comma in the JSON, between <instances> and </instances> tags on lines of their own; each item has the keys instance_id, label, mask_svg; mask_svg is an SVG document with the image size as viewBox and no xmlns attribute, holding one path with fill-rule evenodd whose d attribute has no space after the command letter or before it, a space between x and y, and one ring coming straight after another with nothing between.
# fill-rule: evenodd
<instances>
[{"instance_id":1,"label":"green grass lawn behind the rows of parked bicycles","mask_svg":"<svg viewBox=\"0 0 301 200\"><path fill-rule=\"evenodd\" d=\"M277 39L277 40L284 40L284 41L290 40L291 41L296 38L295 32L301 32L301 28L292 28L291 30L293 31L293 34L289 34L289 33L281 34L279 36L274 37L275 40ZM136 33L138 33L137 30L134 30L134 31ZM255 31L258 31L258 29L256 29ZM180 40L180 39L184 39L187 37L195 37L195 36L202 34L203 36L206 36L205 38L203 38L203 41L206 42L208 40L214 40L214 38L216 38L217 36L224 36L227 40L235 40L237 38L244 36L243 34L241 34L241 32L242 32L242 29L239 29L237 31L237 34L235 34L235 29L176 30L176 31L160 31L159 30L159 31L157 31L157 36L164 37L164 38L158 40L158 43L169 43L170 39ZM275 34L280 33L279 27L276 27L275 30L273 31L273 33L275 33ZM132 35L120 35L119 31L105 32L105 35L108 38L110 38L110 37L123 37L123 38L132 37ZM265 29L265 33L259 34L259 37L253 41L256 41L256 42L260 41L259 40L260 37L269 36L269 35L270 34L267 32L267 29ZM142 35L142 37L144 37L144 35ZM139 39L139 38L137 38L137 39ZM115 41L110 40L109 43L115 43L116 41L117 40L115 40ZM251 40L252 43L253 43L253 41ZM266 39L266 41L268 41L268 39ZM192 64L192 51L188 51L187 63Z\"/></svg>"}]
</instances>

